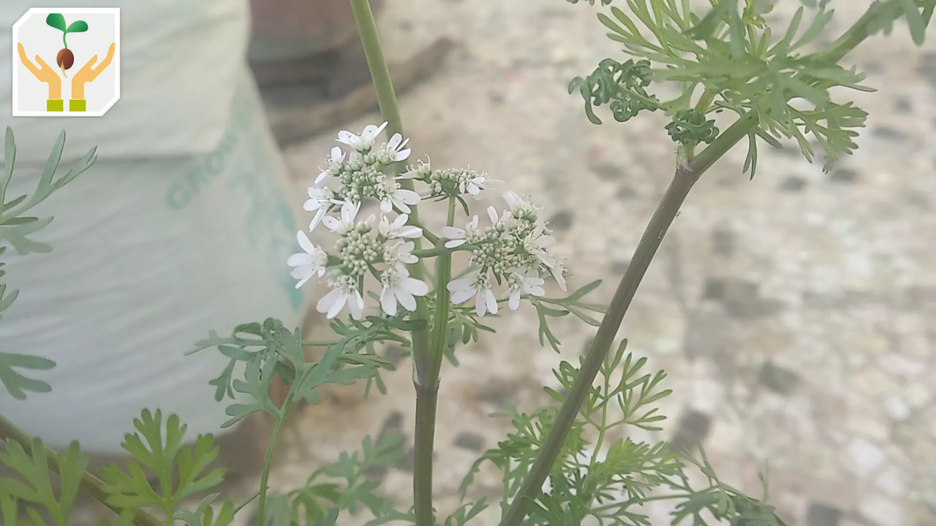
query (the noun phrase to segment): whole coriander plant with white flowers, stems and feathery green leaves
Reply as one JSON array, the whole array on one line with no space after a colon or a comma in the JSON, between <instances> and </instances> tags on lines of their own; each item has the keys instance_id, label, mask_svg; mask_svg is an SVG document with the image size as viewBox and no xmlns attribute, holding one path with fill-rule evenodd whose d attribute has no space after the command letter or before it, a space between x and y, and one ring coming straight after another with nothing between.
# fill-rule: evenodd
<instances>
[{"instance_id":1,"label":"whole coriander plant with white flowers, stems and feathery green leaves","mask_svg":"<svg viewBox=\"0 0 936 526\"><path fill-rule=\"evenodd\" d=\"M870 88L860 83L863 74L841 66L841 60L865 39L888 33L899 20L906 22L914 42L921 43L936 0L873 2L838 36L827 34L833 18L828 0L803 0L786 27L771 27L764 18L775 5L771 0L709 0L704 11L694 10L697 3L690 0L619 0L620 6L601 0L607 10L598 20L609 30L608 37L623 45L624 56L599 62L592 73L572 80L569 91L582 97L586 117L594 124L602 123L599 114L626 123L641 111L665 113L670 122L661 130L661 140L672 140L676 152L672 181L607 308L586 300L600 282L560 298L548 297L548 283L566 290L566 263L553 254L556 240L532 199L484 172L410 159L373 13L367 0L350 2L384 122L338 135L339 145L329 153L305 201L310 212L307 230L314 236L305 229L298 232L297 254L284 262L298 287L311 280L329 286L316 308L331 320L335 335L306 341L299 329L267 319L241 325L229 336L212 330L192 351L215 349L229 358L229 366L212 380L217 400L246 395L227 407L226 426L257 411L275 418L260 488L251 499L256 498L257 525L329 525L362 508L373 515L368 524L374 526L480 523L479 514L489 506L484 500L464 503L446 518L437 517L433 508L432 450L441 369L446 359L457 364L461 345L477 341L482 332L494 332L484 324L485 316L519 308L535 309L540 343L556 351L561 343L549 329L549 318L572 314L597 332L578 364L563 361L554 371L563 387L545 388L554 403L530 414L505 412L515 431L475 462L462 484L462 499L477 469L490 463L503 474L500 526L586 520L645 526L651 524L646 506L658 502L671 503L667 522L672 524L784 524L766 494L754 498L719 480L703 451L675 452L666 443L629 438L628 429L660 429L665 416L655 405L670 390L665 373L646 372L647 358L627 352L626 340L615 344L615 334L695 182L741 140L748 145L742 168L751 177L757 149L764 143L780 147L782 140L794 139L809 160L816 155L812 144L817 143L826 170L842 154L854 151L857 128L864 125L867 113L847 100L833 100L829 90ZM819 37L831 43L809 51ZM675 83L679 95L661 98L663 90L655 89L661 82ZM721 118L736 118L723 130L716 125L719 113ZM48 223L22 217L22 212L93 160L89 153L52 183L61 143L56 148L36 196L3 205L0 237L21 253L39 250L23 236ZM13 153L7 132L7 172L0 195L11 174ZM479 197L497 205L478 211ZM361 207L368 201L379 206L365 217ZM437 231L420 219L433 204L446 220ZM7 308L13 299L15 293L0 301L0 307ZM399 436L376 443L365 438L360 450L316 470L303 487L268 495L272 455L290 408L300 400L318 402L317 388L329 383L366 381L385 390L380 372L390 365L374 347L388 342L408 347L412 359L417 410L412 507L396 509L364 475L373 466L398 460L393 446ZM321 358L308 360L306 347L321 347ZM237 362L244 362L246 369L235 378ZM41 371L53 365L41 358L0 354L0 381L20 398L25 391L48 391L49 386L14 368ZM289 386L282 407L268 395L277 376ZM214 493L194 507L187 505L190 497L212 489L224 476L220 470L208 470L217 456L210 435L186 443L183 423L158 410L143 411L134 425L136 432L128 433L124 442L134 460L92 474L85 471L87 457L77 444L54 452L0 419L7 441L0 461L25 479L0 480L4 523L17 523L20 506L34 504L65 525L79 490L110 506L115 524L178 521L226 526L234 520L247 503L223 501ZM622 438L612 438L619 435ZM158 483L147 478L144 469L156 474ZM59 474L57 494L51 490L49 471ZM698 479L705 482L699 485ZM35 510L28 513L28 521L20 519L20 524L46 523Z\"/></svg>"}]
</instances>

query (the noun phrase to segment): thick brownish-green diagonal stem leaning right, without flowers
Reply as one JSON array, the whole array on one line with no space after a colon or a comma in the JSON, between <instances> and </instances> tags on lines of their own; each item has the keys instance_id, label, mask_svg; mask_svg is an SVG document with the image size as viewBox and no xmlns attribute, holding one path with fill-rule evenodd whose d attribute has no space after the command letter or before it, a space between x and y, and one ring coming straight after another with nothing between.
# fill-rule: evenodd
<instances>
[{"instance_id":1,"label":"thick brownish-green diagonal stem leaning right, without flowers","mask_svg":"<svg viewBox=\"0 0 936 526\"><path fill-rule=\"evenodd\" d=\"M823 60L834 59L836 62L841 60L845 54L855 49L858 44L870 36L870 22L881 15L882 9L894 8L896 2L899 2L899 0L888 0L887 2L872 4L865 15L849 28L841 38L836 40L828 51L819 53L819 55L823 56ZM594 377L607 357L615 335L621 328L624 314L627 313L631 300L634 300L637 287L650 267L651 260L656 254L660 242L663 241L666 231L680 212L680 206L686 196L689 195L689 191L699 177L711 168L715 161L720 159L724 153L727 153L740 139L751 133L756 125L756 114L746 113L728 129L724 130L722 135L715 139L708 148L695 155L685 166L676 169L672 182L669 183L663 199L657 206L656 212L653 212L650 223L637 244L634 256L631 258L631 264L624 271L621 283L614 292L607 314L605 314L600 327L598 327L592 345L582 361L578 376L559 410L559 416L556 417L552 430L549 431L546 443L534 461L530 474L523 481L518 495L507 509L500 526L518 526L520 521L526 517L523 499L534 499L540 488L542 488L543 481L546 480L549 474L549 468L559 456L569 430L572 428L581 405L592 387Z\"/></svg>"}]
</instances>

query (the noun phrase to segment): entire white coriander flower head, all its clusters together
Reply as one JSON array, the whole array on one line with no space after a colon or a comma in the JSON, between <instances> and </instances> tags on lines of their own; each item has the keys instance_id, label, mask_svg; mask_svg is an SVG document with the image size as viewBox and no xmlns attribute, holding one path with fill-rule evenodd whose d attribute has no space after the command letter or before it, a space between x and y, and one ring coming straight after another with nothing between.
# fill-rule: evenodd
<instances>
[{"instance_id":1,"label":"entire white coriander flower head, all its clusters together","mask_svg":"<svg viewBox=\"0 0 936 526\"><path fill-rule=\"evenodd\" d=\"M400 176L386 173L393 164L405 161L410 150L408 140L394 134L387 143L375 148L377 137L387 127L370 124L360 135L348 131L338 134L338 142L349 147L345 153L334 147L328 168L309 188L307 212L315 212L309 231L319 224L338 235L334 250L326 252L300 231L297 234L302 253L290 256L291 275L299 280L297 288L313 277L323 279L331 291L318 301L318 312L333 318L345 307L355 319L365 310L365 279L373 276L381 285L381 309L391 316L400 310L416 310L416 298L429 293L429 286L410 277L407 265L417 263L413 241L423 236L422 228L408 225L410 207L421 198L402 187L401 180L425 183L424 197L445 198L463 195L479 197L482 191L500 190L502 182L471 169L433 170L420 161ZM334 188L328 184L337 182ZM364 199L380 201L379 217L358 219ZM565 290L563 265L548 252L556 241L540 218L541 209L513 192L504 194L508 209L498 215L488 208L490 226L479 226L475 216L464 228L442 229L445 247L471 251L468 270L446 284L451 300L461 304L475 298L478 315L496 314L498 298L507 300L510 309L519 307L522 295L542 296L550 274ZM334 212L338 212L335 214ZM331 215L329 215L331 214ZM431 237L431 236L430 236ZM462 246L464 245L464 246ZM495 292L495 285L499 290Z\"/></svg>"}]
</instances>

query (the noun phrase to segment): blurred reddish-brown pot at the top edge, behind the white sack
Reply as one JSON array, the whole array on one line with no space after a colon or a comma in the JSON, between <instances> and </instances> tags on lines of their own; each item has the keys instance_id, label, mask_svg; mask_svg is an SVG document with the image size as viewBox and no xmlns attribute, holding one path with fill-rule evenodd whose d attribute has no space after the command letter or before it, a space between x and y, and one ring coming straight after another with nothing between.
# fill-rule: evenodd
<instances>
[{"instance_id":1,"label":"blurred reddish-brown pot at the top edge, behind the white sack","mask_svg":"<svg viewBox=\"0 0 936 526\"><path fill-rule=\"evenodd\" d=\"M374 13L385 0L372 0ZM348 0L251 0L251 62L292 60L341 48L357 37Z\"/></svg>"}]
</instances>

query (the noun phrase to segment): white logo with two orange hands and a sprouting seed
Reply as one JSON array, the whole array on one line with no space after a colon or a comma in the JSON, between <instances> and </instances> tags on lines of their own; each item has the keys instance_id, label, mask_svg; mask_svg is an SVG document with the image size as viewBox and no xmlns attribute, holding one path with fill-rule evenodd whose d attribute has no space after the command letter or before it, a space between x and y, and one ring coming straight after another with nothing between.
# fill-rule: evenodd
<instances>
[{"instance_id":1,"label":"white logo with two orange hands and a sprouting seed","mask_svg":"<svg viewBox=\"0 0 936 526\"><path fill-rule=\"evenodd\" d=\"M49 9L46 10L46 13L41 13L34 12L37 11L37 8L30 9L26 15L23 15L20 22L17 22L13 27L14 37L17 41L16 52L19 57L19 62L22 64L25 71L28 71L35 80L45 84L45 92L47 95L45 111L42 111L41 107L35 107L37 106L36 104L30 104L31 100L39 98L36 96L37 89L41 88L36 85L35 81L30 80L28 75L14 74L14 116L39 116L43 114L103 115L120 96L119 74L110 76L109 81L113 86L104 86L101 90L97 90L100 92L100 96L95 97L96 100L93 101L91 106L89 106L89 101L86 97L88 94L86 88L88 84L97 80L114 62L118 44L117 37L119 36L119 9L67 9L67 11L70 11L68 14L77 15L71 17L72 22L70 23L66 22L66 15L63 12L48 12L48 10ZM66 11L66 9L60 10ZM37 23L38 20L36 19L39 19L39 16L43 14L45 14L45 23L39 26ZM110 19L106 16L102 17L102 15L106 14L111 15ZM98 30L98 26L100 26L100 30ZM41 29L39 29L40 27ZM59 33L61 36L61 46L57 45L58 36L55 36L56 46L55 48L51 48L51 37L58 32L61 32ZM37 34L39 33L41 33L41 41L37 38ZM81 34L79 38L80 50L78 51L75 51L68 45L68 37L76 34ZM75 40L75 38L72 38L73 43ZM110 43L108 42L109 40ZM33 55L32 59L30 59L29 54L26 52L27 46L31 48L31 51L33 51L32 48L34 46L37 48L37 52ZM104 59L98 62L98 53L104 51L105 46L107 46L107 53L104 55ZM49 52L52 49L57 49L57 52ZM94 54L86 59L83 66L80 66L78 71L75 71L69 78L66 71L72 69L76 62L80 63L82 55L87 57L88 54L92 52L94 52ZM49 57L50 61L43 59L41 56L43 54ZM55 56L54 64L58 67L53 67L50 64L52 54ZM32 82L31 85L30 82ZM70 93L67 96L67 112L65 108L66 97L63 96L64 86L70 88ZM27 109L25 108L26 105L34 106L34 108ZM92 108L92 106L94 108Z\"/></svg>"}]
</instances>

